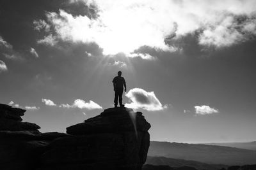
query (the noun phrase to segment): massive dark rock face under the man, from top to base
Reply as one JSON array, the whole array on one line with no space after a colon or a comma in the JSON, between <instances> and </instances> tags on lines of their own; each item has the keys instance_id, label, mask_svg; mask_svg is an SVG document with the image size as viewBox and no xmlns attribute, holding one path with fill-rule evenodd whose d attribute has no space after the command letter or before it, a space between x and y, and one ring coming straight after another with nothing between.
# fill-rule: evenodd
<instances>
[{"instance_id":1,"label":"massive dark rock face under the man, from top to base","mask_svg":"<svg viewBox=\"0 0 256 170\"><path fill-rule=\"evenodd\" d=\"M67 127L72 136L52 141L39 169L141 169L147 159L150 124L142 113L110 108Z\"/></svg>"}]
</instances>

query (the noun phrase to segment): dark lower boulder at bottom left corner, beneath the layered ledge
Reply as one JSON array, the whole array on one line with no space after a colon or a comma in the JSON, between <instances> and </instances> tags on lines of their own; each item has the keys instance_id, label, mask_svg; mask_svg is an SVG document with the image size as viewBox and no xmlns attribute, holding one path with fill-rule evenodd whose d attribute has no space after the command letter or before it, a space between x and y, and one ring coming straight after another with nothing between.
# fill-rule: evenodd
<instances>
[{"instance_id":1,"label":"dark lower boulder at bottom left corner, beneath the layered ledge","mask_svg":"<svg viewBox=\"0 0 256 170\"><path fill-rule=\"evenodd\" d=\"M0 131L0 169L23 170L40 166L40 155L53 139L67 134L38 131Z\"/></svg>"}]
</instances>

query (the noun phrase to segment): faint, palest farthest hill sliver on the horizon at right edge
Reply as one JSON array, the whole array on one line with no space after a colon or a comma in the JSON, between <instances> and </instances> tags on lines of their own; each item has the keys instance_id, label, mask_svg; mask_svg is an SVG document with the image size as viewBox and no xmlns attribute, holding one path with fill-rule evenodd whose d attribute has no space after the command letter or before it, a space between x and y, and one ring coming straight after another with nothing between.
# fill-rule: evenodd
<instances>
[{"instance_id":1,"label":"faint, palest farthest hill sliver on the horizon at right edge","mask_svg":"<svg viewBox=\"0 0 256 170\"><path fill-rule=\"evenodd\" d=\"M204 145L229 146L246 150L256 150L256 141L241 143L203 143Z\"/></svg>"}]
</instances>

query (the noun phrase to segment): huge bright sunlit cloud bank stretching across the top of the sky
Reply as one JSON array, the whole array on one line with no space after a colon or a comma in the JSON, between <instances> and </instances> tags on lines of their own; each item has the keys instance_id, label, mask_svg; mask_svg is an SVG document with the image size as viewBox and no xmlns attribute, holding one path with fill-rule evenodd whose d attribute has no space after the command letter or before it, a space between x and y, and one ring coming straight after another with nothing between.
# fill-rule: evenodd
<instances>
[{"instance_id":1,"label":"huge bright sunlit cloud bank stretching across the top of the sky","mask_svg":"<svg viewBox=\"0 0 256 170\"><path fill-rule=\"evenodd\" d=\"M256 35L255 0L70 0L97 8L97 17L73 16L67 11L47 12L56 38L97 43L105 55L122 52L132 57L140 46L176 50L166 39L198 31L198 43L230 46ZM44 26L41 21L35 29ZM47 36L38 41L46 43ZM46 41L47 40L47 41ZM54 43L51 43L52 45ZM146 56L148 57L148 56Z\"/></svg>"}]
</instances>

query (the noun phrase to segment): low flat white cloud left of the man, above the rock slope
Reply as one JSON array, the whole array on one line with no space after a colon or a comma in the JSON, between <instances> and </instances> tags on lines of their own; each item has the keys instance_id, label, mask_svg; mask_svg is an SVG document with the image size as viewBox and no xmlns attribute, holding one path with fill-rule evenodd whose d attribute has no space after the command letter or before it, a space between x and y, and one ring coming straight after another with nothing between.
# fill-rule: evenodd
<instances>
[{"instance_id":1,"label":"low flat white cloud left of the man, above the rock slope","mask_svg":"<svg viewBox=\"0 0 256 170\"><path fill-rule=\"evenodd\" d=\"M93 101L89 101L88 103L86 103L85 101L83 101L81 99L76 99L72 105L61 104L60 107L61 108L80 108L80 109L85 108L88 110L102 109L102 107L99 104L97 104Z\"/></svg>"}]
</instances>

